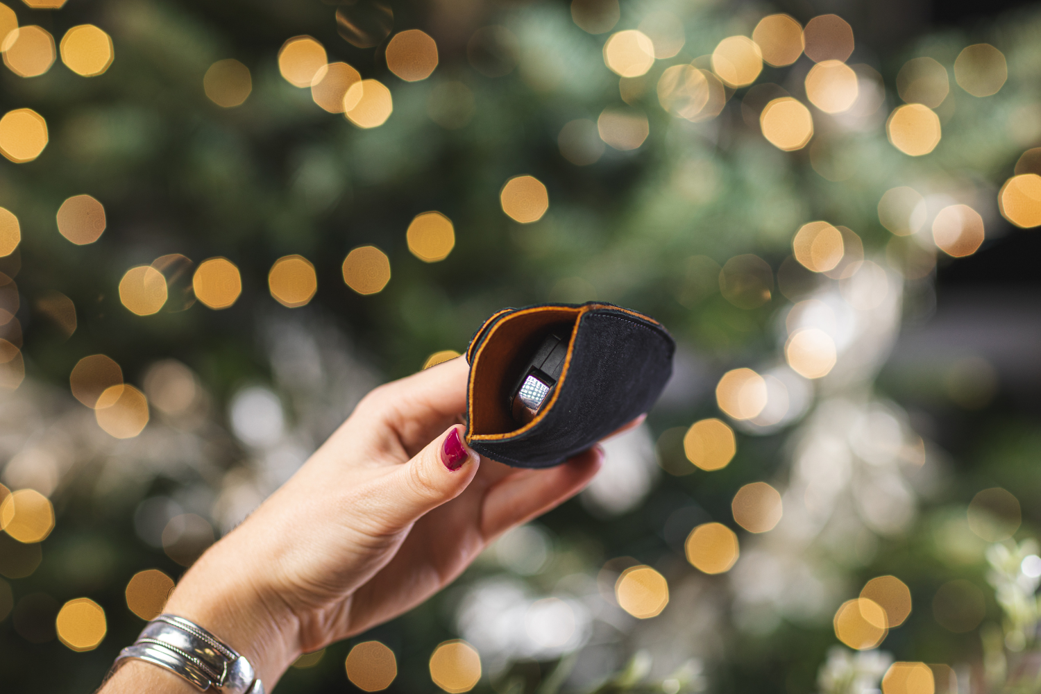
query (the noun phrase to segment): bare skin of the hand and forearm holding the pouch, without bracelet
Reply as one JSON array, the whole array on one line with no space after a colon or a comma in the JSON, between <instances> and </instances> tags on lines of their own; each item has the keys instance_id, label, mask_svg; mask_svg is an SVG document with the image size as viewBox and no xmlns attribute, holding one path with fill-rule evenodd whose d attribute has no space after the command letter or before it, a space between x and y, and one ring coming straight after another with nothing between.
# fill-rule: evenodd
<instances>
[{"instance_id":1,"label":"bare skin of the hand and forearm holding the pouch, without bracelet","mask_svg":"<svg viewBox=\"0 0 1041 694\"><path fill-rule=\"evenodd\" d=\"M420 605L493 541L582 490L594 446L557 467L508 467L445 439L466 407L460 357L367 394L280 489L184 574L164 612L205 627L245 656L272 691L311 652ZM642 416L618 430L639 425ZM618 433L618 432L616 432ZM102 687L195 692L128 661Z\"/></svg>"}]
</instances>

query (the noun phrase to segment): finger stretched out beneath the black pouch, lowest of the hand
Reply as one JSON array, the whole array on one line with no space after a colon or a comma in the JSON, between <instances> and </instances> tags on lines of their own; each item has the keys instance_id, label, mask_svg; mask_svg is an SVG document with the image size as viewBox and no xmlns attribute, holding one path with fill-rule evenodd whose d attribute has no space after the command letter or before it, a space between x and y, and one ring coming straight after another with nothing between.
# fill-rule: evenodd
<instances>
[{"instance_id":1,"label":"finger stretched out beneath the black pouch, lowest of the hand","mask_svg":"<svg viewBox=\"0 0 1041 694\"><path fill-rule=\"evenodd\" d=\"M514 525L563 504L589 484L604 459L600 446L580 453L563 465L525 470L501 480L488 490L481 532L491 539Z\"/></svg>"}]
</instances>

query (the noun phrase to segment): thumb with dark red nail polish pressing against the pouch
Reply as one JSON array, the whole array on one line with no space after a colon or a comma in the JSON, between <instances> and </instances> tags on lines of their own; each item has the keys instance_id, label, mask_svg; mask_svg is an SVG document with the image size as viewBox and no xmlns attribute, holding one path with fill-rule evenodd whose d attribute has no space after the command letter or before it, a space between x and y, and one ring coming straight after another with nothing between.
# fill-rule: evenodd
<instances>
[{"instance_id":1,"label":"thumb with dark red nail polish pressing against the pouch","mask_svg":"<svg viewBox=\"0 0 1041 694\"><path fill-rule=\"evenodd\" d=\"M481 457L462 440L455 425L388 475L393 503L386 520L398 528L458 496L469 485Z\"/></svg>"}]
</instances>

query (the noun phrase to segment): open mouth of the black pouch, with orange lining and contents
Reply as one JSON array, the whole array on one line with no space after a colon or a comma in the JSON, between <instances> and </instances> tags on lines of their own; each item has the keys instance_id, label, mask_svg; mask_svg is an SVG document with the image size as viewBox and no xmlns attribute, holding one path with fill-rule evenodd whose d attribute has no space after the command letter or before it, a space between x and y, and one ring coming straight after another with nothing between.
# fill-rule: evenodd
<instances>
[{"instance_id":1,"label":"open mouth of the black pouch, with orange lining and contents","mask_svg":"<svg viewBox=\"0 0 1041 694\"><path fill-rule=\"evenodd\" d=\"M552 407L566 378L578 307L536 307L490 328L473 360L469 434L509 434Z\"/></svg>"}]
</instances>

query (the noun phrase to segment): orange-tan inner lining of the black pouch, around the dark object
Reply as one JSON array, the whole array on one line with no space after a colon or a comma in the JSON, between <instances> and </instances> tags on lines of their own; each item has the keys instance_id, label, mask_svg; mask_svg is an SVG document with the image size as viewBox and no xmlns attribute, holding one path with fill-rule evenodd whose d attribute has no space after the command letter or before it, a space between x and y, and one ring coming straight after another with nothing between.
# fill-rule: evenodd
<instances>
[{"instance_id":1,"label":"orange-tan inner lining of the black pouch, around the dark object","mask_svg":"<svg viewBox=\"0 0 1041 694\"><path fill-rule=\"evenodd\" d=\"M532 349L528 339L533 334L557 323L572 323L572 336L558 382L567 376L567 364L575 346L575 327L586 307L538 306L512 313L491 327L488 336L474 355L473 374L469 379L469 431L466 440L490 440L514 436L528 431L553 408L559 388L554 388L550 402L541 412L524 427L517 428L506 407L508 380L516 375L508 372L522 350ZM480 407L477 407L477 405Z\"/></svg>"}]
</instances>

